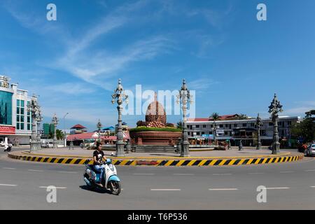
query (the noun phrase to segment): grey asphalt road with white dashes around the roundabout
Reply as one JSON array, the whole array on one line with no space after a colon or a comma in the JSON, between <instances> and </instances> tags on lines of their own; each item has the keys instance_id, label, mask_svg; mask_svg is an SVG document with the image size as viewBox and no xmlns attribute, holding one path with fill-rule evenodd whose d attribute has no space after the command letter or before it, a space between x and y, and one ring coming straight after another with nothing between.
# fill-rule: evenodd
<instances>
[{"instance_id":1,"label":"grey asphalt road with white dashes around the roundabout","mask_svg":"<svg viewBox=\"0 0 315 224\"><path fill-rule=\"evenodd\" d=\"M85 189L83 166L0 158L0 209L315 209L315 160L241 167L117 167L119 196ZM57 203L46 202L56 186ZM267 203L258 203L258 186Z\"/></svg>"}]
</instances>

